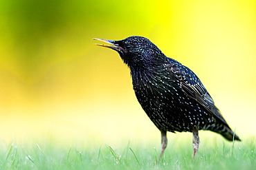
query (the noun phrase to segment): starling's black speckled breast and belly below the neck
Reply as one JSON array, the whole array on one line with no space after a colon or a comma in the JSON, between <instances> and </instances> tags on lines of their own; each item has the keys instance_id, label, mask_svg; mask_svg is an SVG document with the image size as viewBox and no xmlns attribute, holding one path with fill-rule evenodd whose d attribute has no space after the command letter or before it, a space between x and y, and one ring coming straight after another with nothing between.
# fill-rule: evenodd
<instances>
[{"instance_id":1,"label":"starling's black speckled breast and belly below the neck","mask_svg":"<svg viewBox=\"0 0 256 170\"><path fill-rule=\"evenodd\" d=\"M205 125L206 110L185 94L179 79L145 72L132 79L138 102L158 129L190 131L198 123Z\"/></svg>"}]
</instances>

